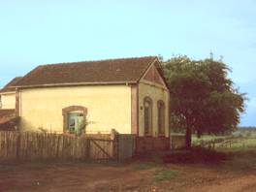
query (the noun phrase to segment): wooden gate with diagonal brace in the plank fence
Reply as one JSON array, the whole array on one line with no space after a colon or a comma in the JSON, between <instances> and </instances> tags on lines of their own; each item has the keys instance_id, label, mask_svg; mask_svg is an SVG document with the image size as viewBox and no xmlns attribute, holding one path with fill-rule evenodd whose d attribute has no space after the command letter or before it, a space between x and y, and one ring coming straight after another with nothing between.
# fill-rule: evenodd
<instances>
[{"instance_id":1,"label":"wooden gate with diagonal brace in the plank fence","mask_svg":"<svg viewBox=\"0 0 256 192\"><path fill-rule=\"evenodd\" d=\"M93 160L116 160L116 140L88 138L89 158Z\"/></svg>"}]
</instances>

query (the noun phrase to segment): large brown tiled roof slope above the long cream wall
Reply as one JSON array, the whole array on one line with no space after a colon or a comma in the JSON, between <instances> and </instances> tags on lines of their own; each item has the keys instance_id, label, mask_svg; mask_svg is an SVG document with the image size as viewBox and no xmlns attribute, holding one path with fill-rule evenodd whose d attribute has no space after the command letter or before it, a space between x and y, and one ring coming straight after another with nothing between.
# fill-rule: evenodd
<instances>
[{"instance_id":1,"label":"large brown tiled roof slope above the long cream wall","mask_svg":"<svg viewBox=\"0 0 256 192\"><path fill-rule=\"evenodd\" d=\"M19 80L16 86L136 82L156 58L147 56L42 65Z\"/></svg>"}]
</instances>

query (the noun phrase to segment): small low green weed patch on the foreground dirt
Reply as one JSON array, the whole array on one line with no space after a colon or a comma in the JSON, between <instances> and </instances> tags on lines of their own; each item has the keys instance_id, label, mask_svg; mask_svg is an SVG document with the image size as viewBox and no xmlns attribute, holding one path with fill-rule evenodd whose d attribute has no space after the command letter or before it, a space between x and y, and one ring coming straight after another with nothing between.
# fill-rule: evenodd
<instances>
[{"instance_id":1,"label":"small low green weed patch on the foreground dirt","mask_svg":"<svg viewBox=\"0 0 256 192\"><path fill-rule=\"evenodd\" d=\"M180 174L180 172L175 170L160 169L155 171L153 178L155 181L170 180L180 176Z\"/></svg>"}]
</instances>

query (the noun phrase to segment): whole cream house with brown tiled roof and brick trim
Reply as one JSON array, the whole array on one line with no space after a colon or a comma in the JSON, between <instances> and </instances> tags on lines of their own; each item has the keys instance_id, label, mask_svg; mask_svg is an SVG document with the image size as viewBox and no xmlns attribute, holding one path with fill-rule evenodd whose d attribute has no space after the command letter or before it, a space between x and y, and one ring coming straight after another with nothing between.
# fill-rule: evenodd
<instances>
[{"instance_id":1,"label":"whole cream house with brown tiled roof and brick trim","mask_svg":"<svg viewBox=\"0 0 256 192\"><path fill-rule=\"evenodd\" d=\"M16 109L22 131L169 137L170 96L155 56L42 65L14 81L2 108Z\"/></svg>"}]
</instances>

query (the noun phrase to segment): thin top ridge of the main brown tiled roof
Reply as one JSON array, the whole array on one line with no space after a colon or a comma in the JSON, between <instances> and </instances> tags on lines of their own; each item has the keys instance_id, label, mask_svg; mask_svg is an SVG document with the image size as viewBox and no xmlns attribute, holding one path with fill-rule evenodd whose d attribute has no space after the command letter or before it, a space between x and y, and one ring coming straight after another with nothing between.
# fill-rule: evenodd
<instances>
[{"instance_id":1,"label":"thin top ridge of the main brown tiled roof","mask_svg":"<svg viewBox=\"0 0 256 192\"><path fill-rule=\"evenodd\" d=\"M99 60L84 60L84 61L72 61L72 62L62 62L62 63L49 63L49 64L41 64L38 67L46 67L46 66L55 66L55 65L67 65L67 64L79 64L79 63L92 63L92 62L104 62L104 61L114 61L114 60L128 60L128 59L144 59L144 58L157 58L157 56L149 55L149 56L139 56L139 57L121 57L121 58L110 58L110 59L99 59Z\"/></svg>"}]
</instances>

